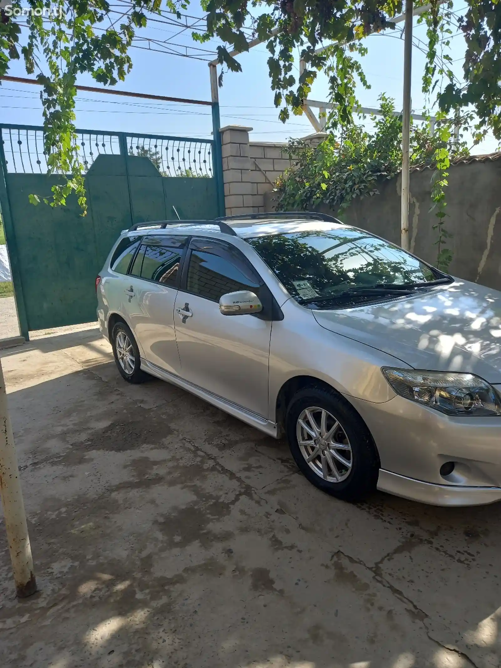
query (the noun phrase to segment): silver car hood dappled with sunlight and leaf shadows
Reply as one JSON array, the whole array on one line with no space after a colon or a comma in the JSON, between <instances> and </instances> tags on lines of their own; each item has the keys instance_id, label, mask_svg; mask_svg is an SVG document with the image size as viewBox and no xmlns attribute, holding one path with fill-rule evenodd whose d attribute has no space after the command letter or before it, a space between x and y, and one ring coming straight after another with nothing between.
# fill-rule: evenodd
<instances>
[{"instance_id":1,"label":"silver car hood dappled with sunlight and leaf shadows","mask_svg":"<svg viewBox=\"0 0 501 668\"><path fill-rule=\"evenodd\" d=\"M501 293L456 279L426 293L335 311L322 327L377 348L414 369L466 371L501 383Z\"/></svg>"}]
</instances>

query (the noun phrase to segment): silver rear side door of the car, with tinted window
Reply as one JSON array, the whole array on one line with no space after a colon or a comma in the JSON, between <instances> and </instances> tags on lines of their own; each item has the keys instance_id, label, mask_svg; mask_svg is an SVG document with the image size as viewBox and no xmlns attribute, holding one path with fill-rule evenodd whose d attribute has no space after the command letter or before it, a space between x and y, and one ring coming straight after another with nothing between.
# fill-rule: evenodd
<instances>
[{"instance_id":1,"label":"silver rear side door of the car, with tinted window","mask_svg":"<svg viewBox=\"0 0 501 668\"><path fill-rule=\"evenodd\" d=\"M125 289L128 320L144 357L170 373L180 372L174 302L186 241L181 236L145 236Z\"/></svg>"}]
</instances>

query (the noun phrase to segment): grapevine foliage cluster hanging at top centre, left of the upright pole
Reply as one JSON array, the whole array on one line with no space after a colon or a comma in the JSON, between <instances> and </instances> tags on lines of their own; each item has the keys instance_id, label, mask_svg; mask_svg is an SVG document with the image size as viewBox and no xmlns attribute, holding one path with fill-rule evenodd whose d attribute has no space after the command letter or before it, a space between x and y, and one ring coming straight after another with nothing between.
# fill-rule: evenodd
<instances>
[{"instance_id":1,"label":"grapevine foliage cluster hanging at top centre, left of the upright pole","mask_svg":"<svg viewBox=\"0 0 501 668\"><path fill-rule=\"evenodd\" d=\"M259 39L267 42L271 88L275 91L275 105L281 106L279 118L284 122L303 114L303 100L311 91L317 73L326 71L333 102L339 105L331 114L331 123L351 122L356 106L357 80L369 88L357 55L367 51L361 37L373 30L391 25L390 17L401 9L397 3L355 3L354 0L319 1L295 0L273 2L251 0L235 3L233 0L202 0L202 9L208 12L205 33L194 33L204 41L218 37L225 45L218 47L218 60L230 71L240 71L241 65L229 53L230 49L248 51L248 42L242 27L251 23ZM262 13L255 12L256 8ZM277 30L273 35L272 31ZM332 41L323 53L319 47ZM227 45L227 46L226 46ZM305 70L293 73L295 55L301 54Z\"/></svg>"}]
</instances>

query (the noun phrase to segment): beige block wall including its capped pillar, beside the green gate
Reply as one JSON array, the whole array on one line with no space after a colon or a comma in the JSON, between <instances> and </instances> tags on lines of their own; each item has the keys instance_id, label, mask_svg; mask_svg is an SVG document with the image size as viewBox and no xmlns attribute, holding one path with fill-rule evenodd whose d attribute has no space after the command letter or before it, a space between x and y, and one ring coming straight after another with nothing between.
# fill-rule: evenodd
<instances>
[{"instance_id":1,"label":"beige block wall including its capped pillar, beside the green gate","mask_svg":"<svg viewBox=\"0 0 501 668\"><path fill-rule=\"evenodd\" d=\"M221 128L222 174L226 216L265 211L265 193L273 190L275 181L293 164L287 144L251 142L253 128ZM320 142L325 133L305 137Z\"/></svg>"}]
</instances>

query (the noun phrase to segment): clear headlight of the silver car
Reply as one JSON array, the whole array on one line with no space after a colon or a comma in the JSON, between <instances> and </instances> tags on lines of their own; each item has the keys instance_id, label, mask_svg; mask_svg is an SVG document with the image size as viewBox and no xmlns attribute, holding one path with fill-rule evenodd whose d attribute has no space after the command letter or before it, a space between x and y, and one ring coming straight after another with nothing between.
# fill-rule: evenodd
<instances>
[{"instance_id":1,"label":"clear headlight of the silver car","mask_svg":"<svg viewBox=\"0 0 501 668\"><path fill-rule=\"evenodd\" d=\"M501 399L472 373L381 369L395 392L446 415L501 415Z\"/></svg>"}]
</instances>

